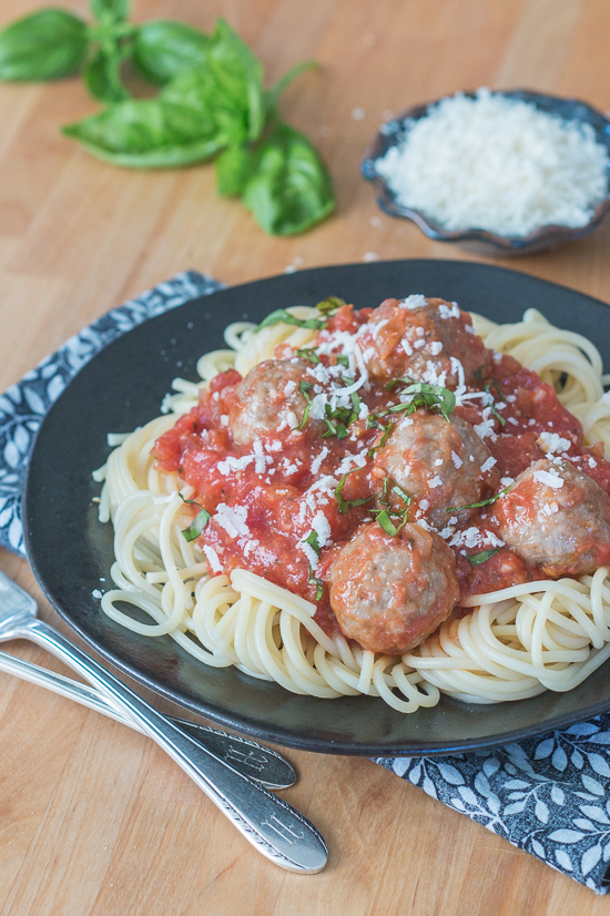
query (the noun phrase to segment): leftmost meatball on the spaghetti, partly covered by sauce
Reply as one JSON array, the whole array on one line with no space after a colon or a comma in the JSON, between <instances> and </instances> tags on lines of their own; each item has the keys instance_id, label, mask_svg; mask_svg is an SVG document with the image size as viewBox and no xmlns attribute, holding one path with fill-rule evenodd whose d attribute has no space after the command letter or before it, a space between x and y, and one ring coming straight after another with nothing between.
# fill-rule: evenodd
<instances>
[{"instance_id":1,"label":"leftmost meatball on the spaghetti, partly covered by sauce","mask_svg":"<svg viewBox=\"0 0 610 916\"><path fill-rule=\"evenodd\" d=\"M283 429L297 427L305 414L307 400L299 383L315 384L304 359L266 359L254 366L237 387L236 401L231 406L228 423L233 439L241 446ZM311 397L313 398L312 391ZM324 424L308 420L307 434L319 435Z\"/></svg>"}]
</instances>

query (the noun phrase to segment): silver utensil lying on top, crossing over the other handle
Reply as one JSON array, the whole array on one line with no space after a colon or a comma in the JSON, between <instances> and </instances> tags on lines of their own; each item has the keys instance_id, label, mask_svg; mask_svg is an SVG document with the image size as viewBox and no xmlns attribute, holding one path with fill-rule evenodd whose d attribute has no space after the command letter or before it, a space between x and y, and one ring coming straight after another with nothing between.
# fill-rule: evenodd
<instances>
[{"instance_id":1,"label":"silver utensil lying on top, crossing over the other handle","mask_svg":"<svg viewBox=\"0 0 610 916\"><path fill-rule=\"evenodd\" d=\"M316 827L260 783L223 763L156 712L67 637L37 618L37 603L0 572L0 642L28 639L57 655L152 737L266 858L299 874L326 865L328 849Z\"/></svg>"}]
</instances>

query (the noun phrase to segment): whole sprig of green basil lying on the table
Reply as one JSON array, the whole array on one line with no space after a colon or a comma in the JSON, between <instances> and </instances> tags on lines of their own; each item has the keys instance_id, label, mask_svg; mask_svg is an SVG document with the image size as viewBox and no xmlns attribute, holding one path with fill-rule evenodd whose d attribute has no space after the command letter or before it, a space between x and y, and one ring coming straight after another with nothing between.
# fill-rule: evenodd
<instances>
[{"instance_id":1,"label":"whole sprig of green basil lying on the table","mask_svg":"<svg viewBox=\"0 0 610 916\"><path fill-rule=\"evenodd\" d=\"M315 64L292 68L270 90L250 48L222 19L206 35L165 20L136 26L129 0L89 0L94 23L60 9L0 32L0 80L57 80L79 70L106 108L63 129L91 154L132 169L173 169L216 159L217 190L241 196L272 235L305 232L335 207L326 165L278 114L286 85ZM161 86L134 99L131 61Z\"/></svg>"}]
</instances>

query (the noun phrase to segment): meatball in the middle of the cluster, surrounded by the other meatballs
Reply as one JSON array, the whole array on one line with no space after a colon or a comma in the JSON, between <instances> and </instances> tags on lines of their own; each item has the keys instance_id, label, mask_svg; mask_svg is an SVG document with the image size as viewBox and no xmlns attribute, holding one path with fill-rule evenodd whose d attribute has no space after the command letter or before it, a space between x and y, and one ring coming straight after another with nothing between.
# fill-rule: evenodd
<instances>
[{"instance_id":1,"label":"meatball in the middle of the cluster, surrounded by the other meatballs","mask_svg":"<svg viewBox=\"0 0 610 916\"><path fill-rule=\"evenodd\" d=\"M500 481L491 452L469 423L424 409L396 424L375 455L373 474L395 480L439 530L448 523L447 509L479 502L497 492ZM455 515L466 521L474 511Z\"/></svg>"}]
</instances>

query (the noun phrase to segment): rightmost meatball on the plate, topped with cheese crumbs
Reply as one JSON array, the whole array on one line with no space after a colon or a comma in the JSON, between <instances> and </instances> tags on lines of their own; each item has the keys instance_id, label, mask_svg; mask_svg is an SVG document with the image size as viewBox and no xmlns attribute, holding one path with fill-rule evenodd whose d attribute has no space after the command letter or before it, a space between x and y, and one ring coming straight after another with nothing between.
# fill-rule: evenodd
<instances>
[{"instance_id":1,"label":"rightmost meatball on the plate, topped with cheese crumbs","mask_svg":"<svg viewBox=\"0 0 610 916\"><path fill-rule=\"evenodd\" d=\"M582 576L610 562L610 498L569 461L536 461L492 513L506 543L547 576Z\"/></svg>"}]
</instances>

